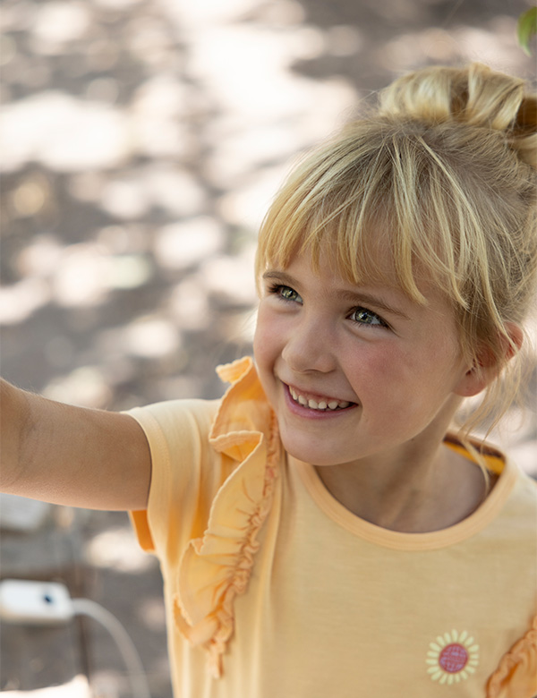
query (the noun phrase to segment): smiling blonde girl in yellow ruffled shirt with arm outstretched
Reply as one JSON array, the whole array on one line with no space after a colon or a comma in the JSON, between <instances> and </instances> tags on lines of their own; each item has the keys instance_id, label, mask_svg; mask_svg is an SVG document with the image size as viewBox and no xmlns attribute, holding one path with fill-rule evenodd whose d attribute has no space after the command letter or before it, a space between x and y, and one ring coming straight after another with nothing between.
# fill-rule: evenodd
<instances>
[{"instance_id":1,"label":"smiling blonde girl in yellow ruffled shirt with arm outstretched","mask_svg":"<svg viewBox=\"0 0 537 698\"><path fill-rule=\"evenodd\" d=\"M4 385L4 489L132 510L158 556L177 698L537 693L534 483L450 431L516 391L536 112L523 81L427 68L303 159L221 400Z\"/></svg>"}]
</instances>

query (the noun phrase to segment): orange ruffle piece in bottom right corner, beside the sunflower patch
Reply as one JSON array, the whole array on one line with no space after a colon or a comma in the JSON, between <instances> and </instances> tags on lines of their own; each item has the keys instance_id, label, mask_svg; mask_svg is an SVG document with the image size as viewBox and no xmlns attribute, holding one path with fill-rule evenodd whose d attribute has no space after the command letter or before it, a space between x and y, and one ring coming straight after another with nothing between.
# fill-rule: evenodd
<instances>
[{"instance_id":1,"label":"orange ruffle piece in bottom right corner, beside the sunflower patch","mask_svg":"<svg viewBox=\"0 0 537 698\"><path fill-rule=\"evenodd\" d=\"M489 679L486 698L535 698L537 695L537 616L532 627L504 654Z\"/></svg>"}]
</instances>

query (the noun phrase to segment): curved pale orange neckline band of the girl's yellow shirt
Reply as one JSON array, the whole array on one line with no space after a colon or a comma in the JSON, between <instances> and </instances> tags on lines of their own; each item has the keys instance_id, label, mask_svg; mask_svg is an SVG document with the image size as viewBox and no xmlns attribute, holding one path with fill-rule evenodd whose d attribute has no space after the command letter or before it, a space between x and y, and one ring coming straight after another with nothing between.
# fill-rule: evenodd
<instances>
[{"instance_id":1,"label":"curved pale orange neckline band of the girl's yellow shirt","mask_svg":"<svg viewBox=\"0 0 537 698\"><path fill-rule=\"evenodd\" d=\"M473 514L467 516L463 521L439 531L404 533L371 524L353 514L330 494L311 464L303 463L292 455L287 455L287 459L289 467L298 472L304 487L308 490L315 504L332 521L364 541L398 550L432 550L446 548L465 541L475 533L482 531L498 515L516 481L516 467L509 459L506 459L494 489Z\"/></svg>"}]
</instances>

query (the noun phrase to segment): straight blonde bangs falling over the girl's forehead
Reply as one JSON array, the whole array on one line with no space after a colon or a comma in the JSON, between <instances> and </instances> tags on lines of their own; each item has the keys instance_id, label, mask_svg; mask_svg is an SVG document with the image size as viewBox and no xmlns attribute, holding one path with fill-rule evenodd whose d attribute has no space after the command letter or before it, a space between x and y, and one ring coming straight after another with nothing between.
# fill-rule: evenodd
<instances>
[{"instance_id":1,"label":"straight blonde bangs falling over the girl's forehead","mask_svg":"<svg viewBox=\"0 0 537 698\"><path fill-rule=\"evenodd\" d=\"M395 273L413 302L426 303L426 281L465 308L474 259L465 240L473 232L461 231L479 223L462 196L454 231L452 179L416 134L354 124L304 160L277 194L260 230L258 279L268 265L286 268L308 251L314 268L328 265L354 285L393 285Z\"/></svg>"}]
</instances>

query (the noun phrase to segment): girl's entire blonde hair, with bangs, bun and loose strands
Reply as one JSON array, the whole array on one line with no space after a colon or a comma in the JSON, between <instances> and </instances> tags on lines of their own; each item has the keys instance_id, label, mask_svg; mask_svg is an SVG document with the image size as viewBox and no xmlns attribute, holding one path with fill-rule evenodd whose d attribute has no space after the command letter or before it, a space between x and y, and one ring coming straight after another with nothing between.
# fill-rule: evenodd
<instances>
[{"instance_id":1,"label":"girl's entire blonde hair, with bangs, bun and loose strands","mask_svg":"<svg viewBox=\"0 0 537 698\"><path fill-rule=\"evenodd\" d=\"M466 360L500 372L517 352L506 323L523 321L537 277L537 98L525 88L482 64L396 80L289 176L261 226L258 279L307 249L360 284L382 277L381 244L415 302L420 278L445 290ZM512 376L490 384L466 436L505 413Z\"/></svg>"}]
</instances>

